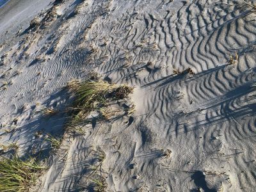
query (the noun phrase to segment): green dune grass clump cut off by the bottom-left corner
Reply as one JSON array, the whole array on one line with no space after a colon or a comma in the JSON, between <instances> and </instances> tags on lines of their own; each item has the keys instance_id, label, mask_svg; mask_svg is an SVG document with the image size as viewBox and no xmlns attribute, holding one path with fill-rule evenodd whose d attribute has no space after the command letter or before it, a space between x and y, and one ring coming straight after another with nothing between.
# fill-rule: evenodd
<instances>
[{"instance_id":1,"label":"green dune grass clump cut off by the bottom-left corner","mask_svg":"<svg viewBox=\"0 0 256 192\"><path fill-rule=\"evenodd\" d=\"M0 159L0 191L24 192L33 186L38 174L46 168L36 163L34 158L22 161L19 157L12 159L1 157Z\"/></svg>"}]
</instances>

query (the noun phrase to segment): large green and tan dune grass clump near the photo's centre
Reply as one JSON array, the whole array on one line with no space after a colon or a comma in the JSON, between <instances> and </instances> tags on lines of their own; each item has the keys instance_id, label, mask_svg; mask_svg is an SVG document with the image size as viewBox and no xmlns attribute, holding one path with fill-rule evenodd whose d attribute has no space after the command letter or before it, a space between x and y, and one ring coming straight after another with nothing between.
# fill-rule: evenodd
<instances>
[{"instance_id":1,"label":"large green and tan dune grass clump near the photo's centre","mask_svg":"<svg viewBox=\"0 0 256 192\"><path fill-rule=\"evenodd\" d=\"M124 99L132 92L127 85L110 84L105 81L79 81L72 80L67 88L75 94L72 111L71 125L79 124L92 111L100 111L110 100Z\"/></svg>"}]
</instances>

